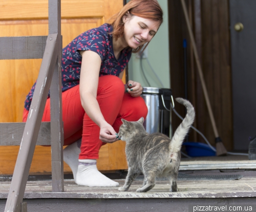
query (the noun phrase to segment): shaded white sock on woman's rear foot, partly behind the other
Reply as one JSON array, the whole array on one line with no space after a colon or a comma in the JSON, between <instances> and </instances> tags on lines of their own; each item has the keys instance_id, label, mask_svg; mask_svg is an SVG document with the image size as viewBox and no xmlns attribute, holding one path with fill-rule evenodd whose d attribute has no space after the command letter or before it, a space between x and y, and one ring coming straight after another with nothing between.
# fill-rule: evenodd
<instances>
[{"instance_id":1,"label":"shaded white sock on woman's rear foot, partly behind the other","mask_svg":"<svg viewBox=\"0 0 256 212\"><path fill-rule=\"evenodd\" d=\"M80 154L81 139L77 140L73 144L70 144L63 149L63 160L69 165L73 172L74 180L76 182L76 173L78 169L78 157Z\"/></svg>"}]
</instances>

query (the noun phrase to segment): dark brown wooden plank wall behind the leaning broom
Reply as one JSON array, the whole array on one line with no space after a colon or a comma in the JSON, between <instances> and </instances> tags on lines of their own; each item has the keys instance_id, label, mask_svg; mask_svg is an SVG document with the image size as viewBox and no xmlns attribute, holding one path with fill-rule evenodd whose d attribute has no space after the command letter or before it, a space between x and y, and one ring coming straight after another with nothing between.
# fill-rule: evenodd
<instances>
[{"instance_id":1,"label":"dark brown wooden plank wall behind the leaning broom","mask_svg":"<svg viewBox=\"0 0 256 212\"><path fill-rule=\"evenodd\" d=\"M191 25L209 99L219 135L227 150L232 150L232 103L228 0L186 0ZM183 39L187 39L188 99L195 105L197 127L215 144L199 75L191 52L188 31L180 1L168 1L170 81L174 97L184 97ZM176 110L185 115L184 108ZM173 113L173 128L180 123ZM190 133L189 141L204 142L200 135Z\"/></svg>"}]
</instances>

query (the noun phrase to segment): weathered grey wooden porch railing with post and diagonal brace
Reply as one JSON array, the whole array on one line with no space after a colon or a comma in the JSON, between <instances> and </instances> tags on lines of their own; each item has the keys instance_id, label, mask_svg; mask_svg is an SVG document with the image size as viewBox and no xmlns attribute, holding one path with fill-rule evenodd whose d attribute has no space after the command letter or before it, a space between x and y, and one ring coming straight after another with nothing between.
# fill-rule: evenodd
<instances>
[{"instance_id":1,"label":"weathered grey wooden porch railing with post and diagonal brace","mask_svg":"<svg viewBox=\"0 0 256 212\"><path fill-rule=\"evenodd\" d=\"M60 17L60 0L49 0L48 36L0 37L0 60L42 58L27 122L0 123L0 145L20 145L5 212L27 211L23 197L36 144L51 145L52 192L64 190ZM49 89L51 122L41 123Z\"/></svg>"}]
</instances>

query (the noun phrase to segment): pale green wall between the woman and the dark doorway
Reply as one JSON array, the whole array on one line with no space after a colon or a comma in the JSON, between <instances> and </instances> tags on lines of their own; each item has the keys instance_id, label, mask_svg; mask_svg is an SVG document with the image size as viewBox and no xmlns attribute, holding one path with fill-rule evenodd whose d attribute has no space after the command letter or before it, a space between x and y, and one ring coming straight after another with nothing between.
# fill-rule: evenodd
<instances>
[{"instance_id":1,"label":"pale green wall between the woman and the dark doorway","mask_svg":"<svg viewBox=\"0 0 256 212\"><path fill-rule=\"evenodd\" d=\"M140 59L136 58L136 54L133 54L129 62L129 80L133 80L141 83L143 87L157 87L157 88L170 88L170 74L169 74L169 40L168 40L168 0L158 0L164 16L163 23L160 26L157 34L148 44L148 61L152 68L156 72L163 86L158 80L158 77L154 75L146 59L142 59L143 69L147 81L147 84L142 70L140 68Z\"/></svg>"}]
</instances>

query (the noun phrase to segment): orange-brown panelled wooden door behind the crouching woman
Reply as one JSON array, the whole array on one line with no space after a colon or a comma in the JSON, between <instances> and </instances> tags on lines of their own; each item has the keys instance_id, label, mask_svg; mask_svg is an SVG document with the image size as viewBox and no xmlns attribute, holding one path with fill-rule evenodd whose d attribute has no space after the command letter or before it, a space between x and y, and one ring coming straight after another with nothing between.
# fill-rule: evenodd
<instances>
[{"instance_id":1,"label":"orange-brown panelled wooden door behind the crouching woman","mask_svg":"<svg viewBox=\"0 0 256 212\"><path fill-rule=\"evenodd\" d=\"M62 0L62 45L66 46L80 33L107 22L122 6L123 0ZM48 35L48 0L3 0L0 11L0 37ZM41 59L0 61L0 122L22 122L25 97L37 78L40 63ZM124 147L122 141L104 145L98 169L127 169ZM18 148L0 146L0 174L13 173ZM71 172L67 164L64 171ZM45 172L51 172L51 149L36 146L30 173Z\"/></svg>"}]
</instances>

